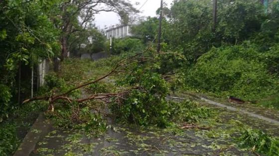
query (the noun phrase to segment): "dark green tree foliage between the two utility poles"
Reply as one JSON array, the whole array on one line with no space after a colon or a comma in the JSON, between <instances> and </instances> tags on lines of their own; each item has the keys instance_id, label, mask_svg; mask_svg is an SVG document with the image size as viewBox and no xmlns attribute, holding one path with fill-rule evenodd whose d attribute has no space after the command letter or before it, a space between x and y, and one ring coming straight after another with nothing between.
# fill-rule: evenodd
<instances>
[{"instance_id":1,"label":"dark green tree foliage between the two utility poles","mask_svg":"<svg viewBox=\"0 0 279 156\"><path fill-rule=\"evenodd\" d=\"M168 43L172 49L182 50L190 62L217 45L211 32L211 0L176 0L171 13Z\"/></svg>"}]
</instances>

